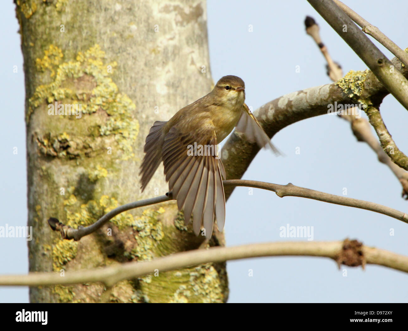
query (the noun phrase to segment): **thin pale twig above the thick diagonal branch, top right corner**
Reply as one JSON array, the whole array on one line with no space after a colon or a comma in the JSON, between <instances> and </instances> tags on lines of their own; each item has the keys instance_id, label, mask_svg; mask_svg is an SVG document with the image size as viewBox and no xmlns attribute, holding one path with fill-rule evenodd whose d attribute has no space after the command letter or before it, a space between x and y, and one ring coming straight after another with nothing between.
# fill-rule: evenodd
<instances>
[{"instance_id":1,"label":"thin pale twig above the thick diagonal branch, top right corner","mask_svg":"<svg viewBox=\"0 0 408 331\"><path fill-rule=\"evenodd\" d=\"M394 54L396 57L401 60L402 63L404 63L406 66L408 66L408 53L406 53L403 49L399 48L395 42L390 40L384 33L382 33L377 26L374 26L373 24L370 24L370 22L367 22L364 18L362 18L359 14L357 14L353 9L350 7L346 6L343 2L339 0L333 0L337 6L339 6L343 11L348 15L349 18L351 18L354 22L356 22L359 26L361 26L361 30L371 37L373 37L375 40L380 42L382 45L388 49L392 54Z\"/></svg>"}]
</instances>

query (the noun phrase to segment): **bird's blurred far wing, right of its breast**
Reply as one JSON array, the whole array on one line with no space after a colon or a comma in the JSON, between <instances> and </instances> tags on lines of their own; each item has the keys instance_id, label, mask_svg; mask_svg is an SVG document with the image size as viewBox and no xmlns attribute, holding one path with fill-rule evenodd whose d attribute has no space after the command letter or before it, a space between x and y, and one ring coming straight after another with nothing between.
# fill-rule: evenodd
<instances>
[{"instance_id":1,"label":"bird's blurred far wing, right of its breast","mask_svg":"<svg viewBox=\"0 0 408 331\"><path fill-rule=\"evenodd\" d=\"M243 132L250 143L256 142L260 148L269 146L275 154L282 154L275 146L273 146L271 139L265 133L264 129L246 104L242 106L242 115L235 128L237 131Z\"/></svg>"}]
</instances>

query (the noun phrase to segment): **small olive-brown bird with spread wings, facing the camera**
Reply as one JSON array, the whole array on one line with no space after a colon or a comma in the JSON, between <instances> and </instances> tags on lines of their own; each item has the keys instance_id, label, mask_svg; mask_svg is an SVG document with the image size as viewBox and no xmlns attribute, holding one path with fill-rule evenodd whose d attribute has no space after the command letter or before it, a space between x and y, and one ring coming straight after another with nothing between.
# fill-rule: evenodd
<instances>
[{"instance_id":1,"label":"small olive-brown bird with spread wings, facing the camera","mask_svg":"<svg viewBox=\"0 0 408 331\"><path fill-rule=\"evenodd\" d=\"M140 169L142 191L163 161L169 191L179 210L184 207L186 225L193 215L197 236L204 223L203 234L211 237L214 215L218 229L224 228L225 170L217 144L237 126L248 141L260 147L268 144L278 153L244 101L244 81L224 76L210 93L180 109L169 121L155 121L146 137Z\"/></svg>"}]
</instances>

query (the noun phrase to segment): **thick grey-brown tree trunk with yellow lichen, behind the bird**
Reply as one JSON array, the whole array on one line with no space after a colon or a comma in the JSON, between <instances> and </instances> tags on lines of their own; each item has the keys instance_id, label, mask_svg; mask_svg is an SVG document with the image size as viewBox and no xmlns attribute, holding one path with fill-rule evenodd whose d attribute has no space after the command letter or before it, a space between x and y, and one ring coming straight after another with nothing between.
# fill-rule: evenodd
<instances>
[{"instance_id":1,"label":"thick grey-brown tree trunk with yellow lichen, behind the bird","mask_svg":"<svg viewBox=\"0 0 408 331\"><path fill-rule=\"evenodd\" d=\"M204 1L15 0L26 87L30 271L64 272L195 249L174 201L122 213L80 241L47 223L89 225L118 205L168 191L159 168L143 194L144 139L208 93ZM77 110L75 113L73 109ZM73 112L73 114L71 113ZM71 114L71 115L69 115ZM210 245L224 245L215 233ZM102 284L31 288L31 302L98 302ZM111 302L223 302L225 264L128 280Z\"/></svg>"}]
</instances>

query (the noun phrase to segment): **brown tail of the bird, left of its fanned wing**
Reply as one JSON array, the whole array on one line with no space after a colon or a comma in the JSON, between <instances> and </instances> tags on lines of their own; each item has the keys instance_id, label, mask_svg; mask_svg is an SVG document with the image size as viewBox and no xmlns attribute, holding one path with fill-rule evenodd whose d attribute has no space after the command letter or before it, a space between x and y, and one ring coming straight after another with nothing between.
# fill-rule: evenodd
<instances>
[{"instance_id":1,"label":"brown tail of the bird, left of its fanned wing","mask_svg":"<svg viewBox=\"0 0 408 331\"><path fill-rule=\"evenodd\" d=\"M144 159L140 166L142 192L153 177L160 162L162 162L162 147L164 141L162 131L166 123L167 121L155 121L150 128L149 135L146 137L146 143L144 145L144 152L146 154L144 154Z\"/></svg>"}]
</instances>

